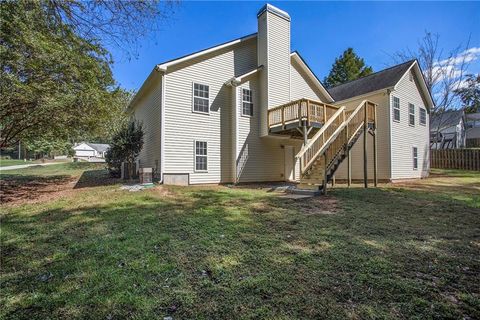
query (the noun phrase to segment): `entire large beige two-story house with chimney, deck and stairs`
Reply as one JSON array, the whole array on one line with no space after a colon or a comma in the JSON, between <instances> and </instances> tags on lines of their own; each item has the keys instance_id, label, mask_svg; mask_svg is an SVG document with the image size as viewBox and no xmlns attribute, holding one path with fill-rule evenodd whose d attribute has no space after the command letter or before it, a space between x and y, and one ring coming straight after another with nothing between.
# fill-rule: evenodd
<instances>
[{"instance_id":1,"label":"entire large beige two-story house with chimney, deck and stairs","mask_svg":"<svg viewBox=\"0 0 480 320\"><path fill-rule=\"evenodd\" d=\"M140 167L165 184L323 190L346 158L349 178L364 178L357 162L373 166L369 179L427 175L433 102L416 61L328 91L291 51L288 13L267 4L257 22L254 34L155 66L128 109L145 130ZM364 132L368 157L357 154Z\"/></svg>"}]
</instances>

